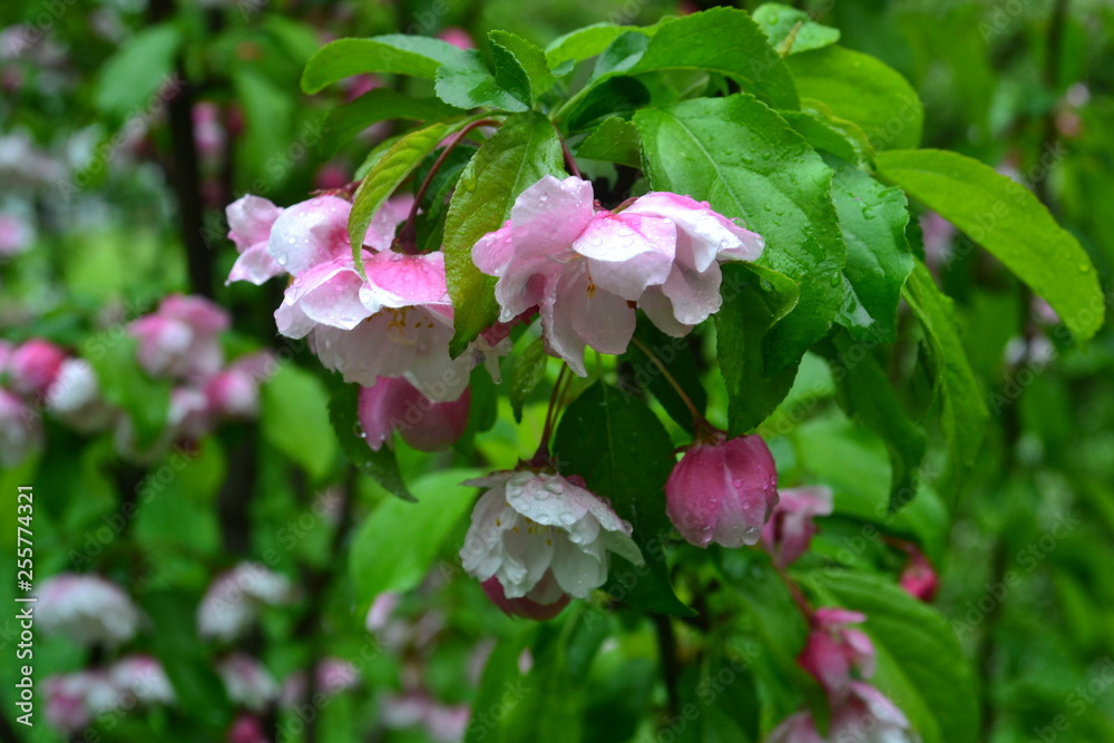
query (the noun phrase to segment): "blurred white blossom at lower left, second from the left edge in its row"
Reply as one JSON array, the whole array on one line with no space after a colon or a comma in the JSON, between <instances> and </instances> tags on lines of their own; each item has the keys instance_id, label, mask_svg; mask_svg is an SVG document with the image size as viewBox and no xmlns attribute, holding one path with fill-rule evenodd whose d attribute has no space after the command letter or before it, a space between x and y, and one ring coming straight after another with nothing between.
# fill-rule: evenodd
<instances>
[{"instance_id":1,"label":"blurred white blossom at lower left, second from the left edge in its row","mask_svg":"<svg viewBox=\"0 0 1114 743\"><path fill-rule=\"evenodd\" d=\"M290 579L260 563L241 563L216 578L197 608L202 637L231 642L247 629L260 607L285 604L293 597Z\"/></svg>"}]
</instances>

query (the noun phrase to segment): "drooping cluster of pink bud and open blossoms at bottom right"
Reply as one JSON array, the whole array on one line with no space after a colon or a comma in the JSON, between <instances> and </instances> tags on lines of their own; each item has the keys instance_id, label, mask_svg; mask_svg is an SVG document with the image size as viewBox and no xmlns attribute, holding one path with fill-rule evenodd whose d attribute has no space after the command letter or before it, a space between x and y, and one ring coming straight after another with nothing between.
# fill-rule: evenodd
<instances>
[{"instance_id":1,"label":"drooping cluster of pink bud and open blossoms at bottom right","mask_svg":"<svg viewBox=\"0 0 1114 743\"><path fill-rule=\"evenodd\" d=\"M905 714L864 681L874 674L874 646L866 633L850 625L866 619L864 615L848 609L817 609L799 662L828 695L831 706L828 737L817 731L812 713L800 712L782 722L770 734L768 743L920 741Z\"/></svg>"}]
</instances>

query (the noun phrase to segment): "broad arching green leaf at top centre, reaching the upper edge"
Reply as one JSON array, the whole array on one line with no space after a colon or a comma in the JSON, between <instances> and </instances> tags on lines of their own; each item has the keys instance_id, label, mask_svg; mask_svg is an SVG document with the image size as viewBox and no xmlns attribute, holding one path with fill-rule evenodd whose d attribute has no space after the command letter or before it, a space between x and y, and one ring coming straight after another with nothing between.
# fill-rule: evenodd
<instances>
[{"instance_id":1,"label":"broad arching green leaf at top centre, reaching the upper edge","mask_svg":"<svg viewBox=\"0 0 1114 743\"><path fill-rule=\"evenodd\" d=\"M775 108L797 108L793 80L745 11L713 8L662 23L628 75L698 69L717 72Z\"/></svg>"}]
</instances>

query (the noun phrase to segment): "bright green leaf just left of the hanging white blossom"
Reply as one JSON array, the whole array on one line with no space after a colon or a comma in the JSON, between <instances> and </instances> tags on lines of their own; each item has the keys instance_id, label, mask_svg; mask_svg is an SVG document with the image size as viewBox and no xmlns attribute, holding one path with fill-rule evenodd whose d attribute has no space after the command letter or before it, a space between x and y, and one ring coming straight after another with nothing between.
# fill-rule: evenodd
<instances>
[{"instance_id":1,"label":"bright green leaf just left of the hanging white blossom","mask_svg":"<svg viewBox=\"0 0 1114 743\"><path fill-rule=\"evenodd\" d=\"M460 482L480 475L447 469L421 477L411 485L418 502L387 499L360 525L349 564L356 614L367 614L383 592L405 592L421 583L476 502L476 489ZM456 563L447 569L460 570Z\"/></svg>"}]
</instances>

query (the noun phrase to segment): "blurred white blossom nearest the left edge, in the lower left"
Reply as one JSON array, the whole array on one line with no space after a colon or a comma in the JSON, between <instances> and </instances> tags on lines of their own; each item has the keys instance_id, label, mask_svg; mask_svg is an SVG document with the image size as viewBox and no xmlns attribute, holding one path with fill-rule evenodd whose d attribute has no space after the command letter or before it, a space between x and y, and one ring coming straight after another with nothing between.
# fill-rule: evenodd
<instances>
[{"instance_id":1,"label":"blurred white blossom nearest the left edge, in the lower left","mask_svg":"<svg viewBox=\"0 0 1114 743\"><path fill-rule=\"evenodd\" d=\"M39 628L82 645L119 645L139 627L139 612L131 599L104 578L63 573L45 581L38 598Z\"/></svg>"}]
</instances>

